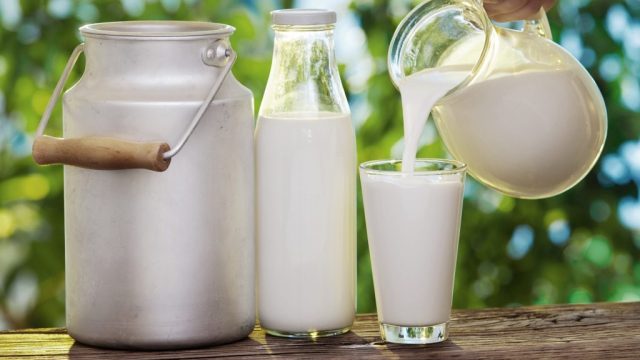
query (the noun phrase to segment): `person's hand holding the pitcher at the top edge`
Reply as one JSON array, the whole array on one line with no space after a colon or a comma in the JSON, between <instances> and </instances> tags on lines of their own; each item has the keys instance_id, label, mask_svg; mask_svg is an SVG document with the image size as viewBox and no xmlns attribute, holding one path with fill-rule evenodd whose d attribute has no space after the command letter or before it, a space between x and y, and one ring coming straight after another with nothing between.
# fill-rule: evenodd
<instances>
[{"instance_id":1,"label":"person's hand holding the pitcher at the top edge","mask_svg":"<svg viewBox=\"0 0 640 360\"><path fill-rule=\"evenodd\" d=\"M556 0L484 0L484 8L495 21L506 22L530 19L541 7L549 10Z\"/></svg>"}]
</instances>

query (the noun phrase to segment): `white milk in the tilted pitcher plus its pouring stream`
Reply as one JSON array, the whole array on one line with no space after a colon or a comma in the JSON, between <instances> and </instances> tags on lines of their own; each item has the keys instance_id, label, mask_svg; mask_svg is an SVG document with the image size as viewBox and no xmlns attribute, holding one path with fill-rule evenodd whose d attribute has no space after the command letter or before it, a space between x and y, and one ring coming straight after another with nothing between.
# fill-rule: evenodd
<instances>
[{"instance_id":1,"label":"white milk in the tilted pitcher plus its pouring stream","mask_svg":"<svg viewBox=\"0 0 640 360\"><path fill-rule=\"evenodd\" d=\"M489 186L520 197L548 197L577 183L606 135L596 89L569 70L531 67L456 91L467 73L443 67L399 83L405 121L404 171L413 168L429 113L448 150ZM597 95L597 94L596 94ZM434 104L437 104L434 107Z\"/></svg>"}]
</instances>

